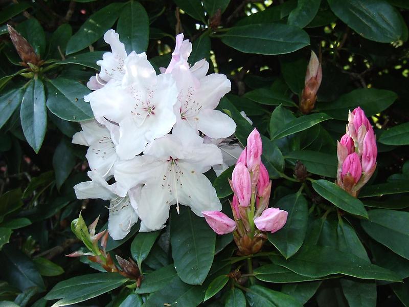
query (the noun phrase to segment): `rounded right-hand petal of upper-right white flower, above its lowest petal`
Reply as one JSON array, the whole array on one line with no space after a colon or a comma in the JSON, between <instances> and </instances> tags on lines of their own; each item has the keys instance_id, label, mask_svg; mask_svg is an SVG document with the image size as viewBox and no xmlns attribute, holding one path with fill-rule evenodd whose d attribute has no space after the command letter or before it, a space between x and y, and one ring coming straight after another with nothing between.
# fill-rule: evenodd
<instances>
[{"instance_id":1,"label":"rounded right-hand petal of upper-right white flower, above its lowest petal","mask_svg":"<svg viewBox=\"0 0 409 307\"><path fill-rule=\"evenodd\" d=\"M221 97L231 90L230 80L223 74L211 74L201 78L200 87L195 93L195 101L203 108L214 109Z\"/></svg>"}]
</instances>

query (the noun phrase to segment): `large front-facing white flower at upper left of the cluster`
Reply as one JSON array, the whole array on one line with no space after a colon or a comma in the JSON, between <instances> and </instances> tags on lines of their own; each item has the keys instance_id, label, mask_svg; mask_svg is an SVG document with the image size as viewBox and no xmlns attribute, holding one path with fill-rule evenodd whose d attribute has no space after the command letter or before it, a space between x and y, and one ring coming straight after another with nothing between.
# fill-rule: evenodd
<instances>
[{"instance_id":1,"label":"large front-facing white flower at upper left of the cluster","mask_svg":"<svg viewBox=\"0 0 409 307\"><path fill-rule=\"evenodd\" d=\"M131 159L148 142L172 129L177 88L171 75L156 76L145 53L131 53L124 71L121 83L108 82L84 99L90 102L97 121L119 125L118 156Z\"/></svg>"}]
</instances>

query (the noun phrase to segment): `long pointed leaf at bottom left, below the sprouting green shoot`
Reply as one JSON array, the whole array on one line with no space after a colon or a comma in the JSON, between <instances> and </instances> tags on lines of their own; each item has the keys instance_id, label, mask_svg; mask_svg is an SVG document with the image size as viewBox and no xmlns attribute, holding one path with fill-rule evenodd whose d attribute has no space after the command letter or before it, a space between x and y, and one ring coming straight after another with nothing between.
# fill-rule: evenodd
<instances>
[{"instance_id":1,"label":"long pointed leaf at bottom left, below the sprouting green shoot","mask_svg":"<svg viewBox=\"0 0 409 307\"><path fill-rule=\"evenodd\" d=\"M116 289L127 280L118 273L76 276L58 282L45 298L47 300L59 299L53 304L53 307L71 305Z\"/></svg>"}]
</instances>

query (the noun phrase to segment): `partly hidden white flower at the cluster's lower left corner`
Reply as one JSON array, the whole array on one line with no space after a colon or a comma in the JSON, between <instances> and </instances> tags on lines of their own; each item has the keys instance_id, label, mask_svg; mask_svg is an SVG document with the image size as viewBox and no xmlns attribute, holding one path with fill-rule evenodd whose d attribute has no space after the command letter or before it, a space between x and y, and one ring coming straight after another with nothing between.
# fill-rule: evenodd
<instances>
[{"instance_id":1,"label":"partly hidden white flower at the cluster's lower left corner","mask_svg":"<svg viewBox=\"0 0 409 307\"><path fill-rule=\"evenodd\" d=\"M141 185L133 187L127 195L122 197L118 195L116 183L108 185L99 174L91 171L88 172L88 177L91 181L81 182L74 186L77 198L110 201L108 232L114 240L123 239L138 221L137 210L135 210L137 208L133 206L137 204L135 197L140 193Z\"/></svg>"}]
</instances>

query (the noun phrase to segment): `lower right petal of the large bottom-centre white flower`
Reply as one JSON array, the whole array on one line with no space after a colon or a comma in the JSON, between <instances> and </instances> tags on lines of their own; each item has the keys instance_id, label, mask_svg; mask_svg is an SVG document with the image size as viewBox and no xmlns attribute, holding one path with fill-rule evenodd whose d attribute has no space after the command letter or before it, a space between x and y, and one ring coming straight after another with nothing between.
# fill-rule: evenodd
<instances>
[{"instance_id":1,"label":"lower right petal of the large bottom-centre white flower","mask_svg":"<svg viewBox=\"0 0 409 307\"><path fill-rule=\"evenodd\" d=\"M196 215L203 216L202 211L221 210L216 190L205 175L184 172L180 176L180 186L180 203L191 207Z\"/></svg>"}]
</instances>

